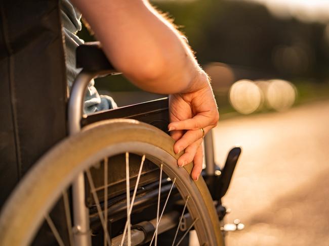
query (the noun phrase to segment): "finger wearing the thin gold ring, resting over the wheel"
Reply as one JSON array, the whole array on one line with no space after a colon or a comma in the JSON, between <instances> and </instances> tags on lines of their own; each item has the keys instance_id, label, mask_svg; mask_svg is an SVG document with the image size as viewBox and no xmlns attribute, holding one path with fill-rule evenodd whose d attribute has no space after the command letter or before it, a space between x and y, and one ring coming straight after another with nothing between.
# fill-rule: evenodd
<instances>
[{"instance_id":1,"label":"finger wearing the thin gold ring, resting over the wheel","mask_svg":"<svg viewBox=\"0 0 329 246\"><path fill-rule=\"evenodd\" d=\"M204 134L207 133L211 128L212 127L203 128ZM176 143L174 145L175 153L181 152L182 150L187 148L187 146L191 145L192 143L198 140L201 140L202 142L202 136L203 136L203 132L200 129L186 131L186 133L180 136L178 140L175 139L176 140Z\"/></svg>"}]
</instances>

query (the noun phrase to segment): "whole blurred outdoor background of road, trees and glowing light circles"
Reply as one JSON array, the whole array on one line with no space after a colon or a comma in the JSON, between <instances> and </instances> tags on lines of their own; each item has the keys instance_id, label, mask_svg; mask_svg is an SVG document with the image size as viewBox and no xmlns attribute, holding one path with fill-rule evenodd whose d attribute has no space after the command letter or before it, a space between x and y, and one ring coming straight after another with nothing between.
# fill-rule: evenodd
<instances>
[{"instance_id":1,"label":"whole blurred outdoor background of road, trees and glowing light circles","mask_svg":"<svg viewBox=\"0 0 329 246\"><path fill-rule=\"evenodd\" d=\"M224 205L227 245L329 245L329 1L152 1L211 76L216 161L241 145ZM86 28L79 36L93 40ZM118 106L163 95L98 79Z\"/></svg>"}]
</instances>

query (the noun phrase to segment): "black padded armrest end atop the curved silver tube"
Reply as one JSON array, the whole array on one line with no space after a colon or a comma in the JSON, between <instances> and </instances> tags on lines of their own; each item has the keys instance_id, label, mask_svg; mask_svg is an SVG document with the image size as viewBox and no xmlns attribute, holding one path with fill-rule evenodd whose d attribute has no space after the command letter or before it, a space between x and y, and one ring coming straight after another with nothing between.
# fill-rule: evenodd
<instances>
[{"instance_id":1,"label":"black padded armrest end atop the curved silver tube","mask_svg":"<svg viewBox=\"0 0 329 246\"><path fill-rule=\"evenodd\" d=\"M76 48L76 67L90 72L113 71L100 42L86 42Z\"/></svg>"}]
</instances>

